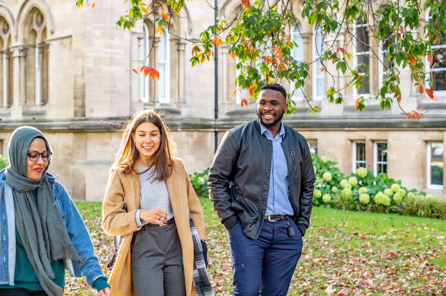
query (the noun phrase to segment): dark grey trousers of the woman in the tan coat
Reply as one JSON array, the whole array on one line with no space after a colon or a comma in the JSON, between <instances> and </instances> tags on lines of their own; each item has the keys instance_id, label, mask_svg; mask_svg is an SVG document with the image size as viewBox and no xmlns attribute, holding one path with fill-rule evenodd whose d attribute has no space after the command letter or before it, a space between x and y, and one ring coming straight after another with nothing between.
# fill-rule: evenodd
<instances>
[{"instance_id":1,"label":"dark grey trousers of the woman in the tan coat","mask_svg":"<svg viewBox=\"0 0 446 296\"><path fill-rule=\"evenodd\" d=\"M183 255L175 223L145 225L133 234L136 296L185 296Z\"/></svg>"}]
</instances>

